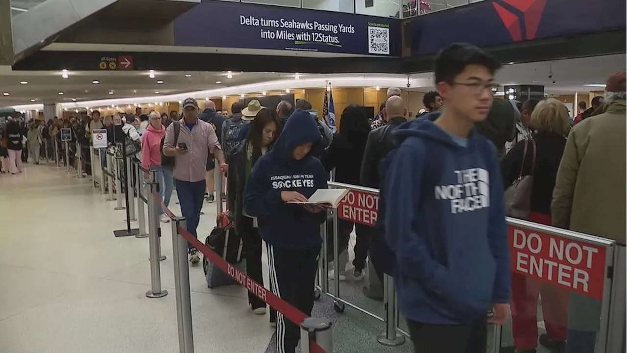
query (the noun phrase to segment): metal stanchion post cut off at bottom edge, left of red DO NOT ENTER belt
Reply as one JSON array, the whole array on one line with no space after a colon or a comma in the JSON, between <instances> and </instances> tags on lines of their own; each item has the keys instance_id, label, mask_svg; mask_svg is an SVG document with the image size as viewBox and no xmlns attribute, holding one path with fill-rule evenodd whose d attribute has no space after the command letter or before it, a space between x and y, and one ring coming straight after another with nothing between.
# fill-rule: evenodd
<instances>
[{"instance_id":1,"label":"metal stanchion post cut off at bottom edge, left of red DO NOT ENTER belt","mask_svg":"<svg viewBox=\"0 0 627 353\"><path fill-rule=\"evenodd\" d=\"M189 264L187 241L179 235L185 227L185 217L172 219L172 253L174 254L174 289L176 291L176 318L179 327L179 352L194 352L191 298L189 294ZM156 262L156 261L155 261Z\"/></svg>"}]
</instances>

